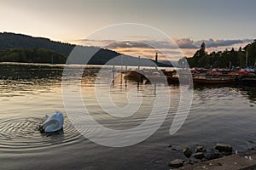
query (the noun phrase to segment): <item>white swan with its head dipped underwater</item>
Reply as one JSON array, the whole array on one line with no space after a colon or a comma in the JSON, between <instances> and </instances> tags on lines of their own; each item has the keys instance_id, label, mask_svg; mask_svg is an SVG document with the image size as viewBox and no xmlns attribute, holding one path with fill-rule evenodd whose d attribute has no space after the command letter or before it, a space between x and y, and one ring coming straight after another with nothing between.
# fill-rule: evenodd
<instances>
[{"instance_id":1,"label":"white swan with its head dipped underwater","mask_svg":"<svg viewBox=\"0 0 256 170\"><path fill-rule=\"evenodd\" d=\"M61 111L56 111L52 116L46 115L46 120L39 127L41 133L53 133L63 128L64 116Z\"/></svg>"}]
</instances>

